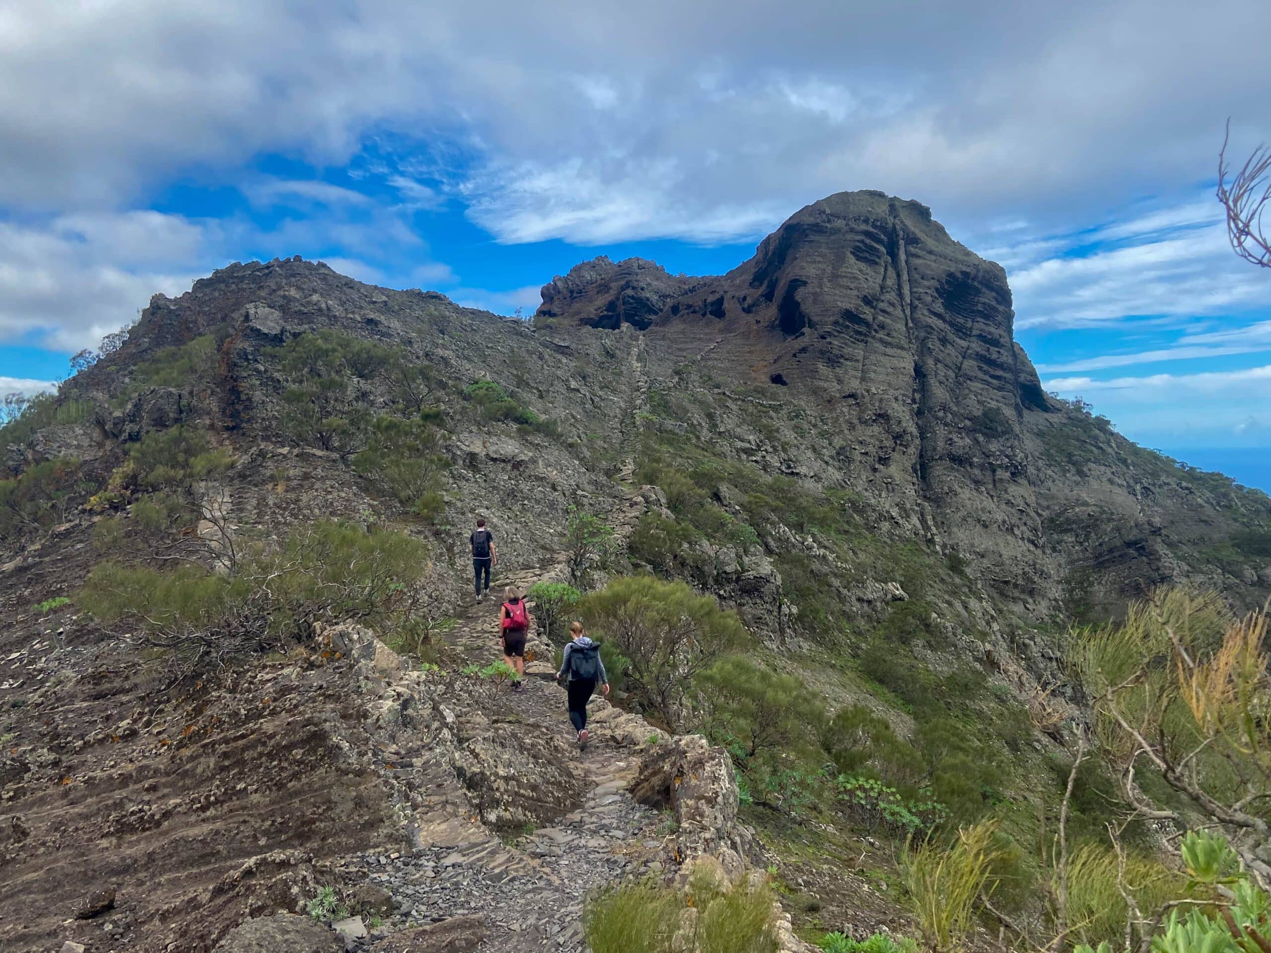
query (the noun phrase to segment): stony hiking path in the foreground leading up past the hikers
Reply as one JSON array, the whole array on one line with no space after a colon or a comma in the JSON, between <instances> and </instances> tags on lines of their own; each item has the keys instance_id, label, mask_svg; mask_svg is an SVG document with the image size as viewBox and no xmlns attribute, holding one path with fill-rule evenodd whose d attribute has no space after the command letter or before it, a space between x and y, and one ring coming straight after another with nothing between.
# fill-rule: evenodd
<instances>
[{"instance_id":1,"label":"stony hiking path in the foreground leading up past the hikers","mask_svg":"<svg viewBox=\"0 0 1271 953\"><path fill-rule=\"evenodd\" d=\"M517 586L524 591L554 568L496 574L489 596L466 606L447 637L460 665L486 666L502 658L496 590ZM674 863L674 831L662 813L636 803L625 790L646 750L646 738L634 737L633 726L656 732L597 695L591 703L591 743L578 751L566 693L554 681L553 649L535 630L527 647L534 658L526 663L525 687L511 691L505 686L494 693L494 704L484 706L484 717L536 750L539 762L526 764L524 778L516 776L515 764L502 765L501 780L513 789L519 783L549 784L539 767L544 759L554 761L552 767L561 775L558 790L533 794L540 813L547 806L550 826L526 825L500 836L477 817L456 818L454 785L438 781L437 789L449 788L438 793L438 808L451 809L436 811L435 823L426 818L414 830L413 851L364 855L346 870L391 893L399 909L409 910L400 917L407 921L426 925L479 916L486 928L479 950L581 953L587 893L628 875L662 872ZM463 741L463 717L458 720ZM482 797L475 801L480 803Z\"/></svg>"}]
</instances>

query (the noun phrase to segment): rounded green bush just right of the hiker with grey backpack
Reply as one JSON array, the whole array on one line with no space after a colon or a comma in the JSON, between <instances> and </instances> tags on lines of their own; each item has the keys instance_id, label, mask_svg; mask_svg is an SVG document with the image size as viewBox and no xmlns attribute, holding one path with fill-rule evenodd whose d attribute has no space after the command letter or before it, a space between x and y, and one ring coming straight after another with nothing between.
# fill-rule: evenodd
<instances>
[{"instance_id":1,"label":"rounded green bush just right of the hiker with grey backpack","mask_svg":"<svg viewBox=\"0 0 1271 953\"><path fill-rule=\"evenodd\" d=\"M737 614L683 582L649 576L615 579L580 602L588 625L625 656L627 690L672 731L694 679L746 638Z\"/></svg>"}]
</instances>

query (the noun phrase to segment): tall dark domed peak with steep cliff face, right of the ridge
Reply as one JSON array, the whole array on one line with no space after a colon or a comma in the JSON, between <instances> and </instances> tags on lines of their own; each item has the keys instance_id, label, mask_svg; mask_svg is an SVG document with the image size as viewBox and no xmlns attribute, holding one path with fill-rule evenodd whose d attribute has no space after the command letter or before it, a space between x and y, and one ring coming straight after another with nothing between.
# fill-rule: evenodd
<instances>
[{"instance_id":1,"label":"tall dark domed peak with steep cliff face, right of the ridge","mask_svg":"<svg viewBox=\"0 0 1271 953\"><path fill-rule=\"evenodd\" d=\"M611 300L613 271L576 272L568 315L597 324L585 305ZM1004 271L925 206L831 196L732 272L670 290L643 297L646 310L662 301L646 339L657 388L713 398L689 426L774 471L850 489L880 531L971 560L1024 615L1115 612L1167 581L1240 605L1266 597L1266 497L1186 473L1047 396L1013 339ZM544 294L547 309L555 291ZM694 371L677 375L685 362ZM763 402L766 436L754 426ZM1227 546L1233 535L1243 543ZM1221 567L1205 563L1210 544Z\"/></svg>"}]
</instances>

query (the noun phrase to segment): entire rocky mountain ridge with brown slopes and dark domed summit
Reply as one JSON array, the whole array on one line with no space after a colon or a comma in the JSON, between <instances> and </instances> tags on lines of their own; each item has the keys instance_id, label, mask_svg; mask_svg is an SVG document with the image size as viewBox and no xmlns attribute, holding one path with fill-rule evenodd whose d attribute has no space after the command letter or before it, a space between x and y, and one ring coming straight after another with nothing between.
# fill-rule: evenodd
<instances>
[{"instance_id":1,"label":"entire rocky mountain ridge with brown slopes and dark domed summit","mask_svg":"<svg viewBox=\"0 0 1271 953\"><path fill-rule=\"evenodd\" d=\"M324 264L236 263L155 296L122 346L5 427L0 940L210 949L336 878L400 901L398 931L446 916L469 936L435 933L438 949L576 948L562 859L587 886L699 854L738 877L773 860L737 821L722 748L601 704L599 743L574 760L549 685L483 699L456 675L496 654L469 605L478 513L501 581L519 583L564 578L571 520L594 517L613 545L590 585L688 581L737 610L771 671L900 737L927 729L915 701L951 685L971 686L949 710L977 728L985 712L1057 705L1035 719L1046 731L1004 729L1004 757L1033 773L1005 802L1043 787L1080 704L1056 626L1162 583L1233 606L1271 595L1271 501L1045 394L1002 268L916 202L833 196L724 276L596 259L543 299L526 323ZM191 499L197 518L164 508ZM75 605L102 562L228 572L320 517L422 548L418 611L458 620L432 637L451 681L384 633L328 628L196 687L169 677L141 623ZM666 779L686 770L714 780L681 809ZM676 837L651 832L663 807ZM689 823L699 807L704 828ZM431 840L423 821L440 825ZM527 823L561 834L502 844ZM590 842L591 823L613 836ZM859 864L779 860L820 883L826 923L892 916ZM500 920L482 905L506 878L553 914ZM116 912L62 930L89 887L117 888Z\"/></svg>"}]
</instances>

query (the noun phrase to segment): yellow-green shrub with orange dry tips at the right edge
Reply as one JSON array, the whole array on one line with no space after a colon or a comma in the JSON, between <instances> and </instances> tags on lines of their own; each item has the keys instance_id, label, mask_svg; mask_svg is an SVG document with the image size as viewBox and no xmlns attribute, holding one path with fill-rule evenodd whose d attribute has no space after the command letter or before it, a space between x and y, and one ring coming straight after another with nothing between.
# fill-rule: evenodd
<instances>
[{"instance_id":1,"label":"yellow-green shrub with orange dry tips at the right edge","mask_svg":"<svg viewBox=\"0 0 1271 953\"><path fill-rule=\"evenodd\" d=\"M1074 661L1097 715L1096 742L1139 817L1188 827L1139 787L1155 771L1220 830L1258 887L1271 884L1271 680L1266 616L1232 619L1213 595L1158 592L1125 623L1079 635Z\"/></svg>"}]
</instances>

